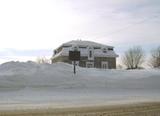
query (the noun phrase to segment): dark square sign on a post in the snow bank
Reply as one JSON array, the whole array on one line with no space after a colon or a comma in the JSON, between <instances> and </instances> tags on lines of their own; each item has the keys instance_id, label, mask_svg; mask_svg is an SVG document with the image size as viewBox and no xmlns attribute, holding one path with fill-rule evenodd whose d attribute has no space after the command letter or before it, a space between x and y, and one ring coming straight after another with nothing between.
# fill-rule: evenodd
<instances>
[{"instance_id":1,"label":"dark square sign on a post in the snow bank","mask_svg":"<svg viewBox=\"0 0 160 116\"><path fill-rule=\"evenodd\" d=\"M73 71L76 74L76 61L80 61L80 51L69 51L69 60L73 61Z\"/></svg>"}]
</instances>

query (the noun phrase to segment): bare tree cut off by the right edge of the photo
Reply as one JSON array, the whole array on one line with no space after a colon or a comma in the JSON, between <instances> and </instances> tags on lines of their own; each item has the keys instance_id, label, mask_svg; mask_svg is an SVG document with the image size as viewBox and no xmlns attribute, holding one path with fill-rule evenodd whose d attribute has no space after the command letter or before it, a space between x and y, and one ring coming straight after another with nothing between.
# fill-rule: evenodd
<instances>
[{"instance_id":1,"label":"bare tree cut off by the right edge of the photo","mask_svg":"<svg viewBox=\"0 0 160 116\"><path fill-rule=\"evenodd\" d=\"M160 46L151 51L150 65L153 68L160 68Z\"/></svg>"}]
</instances>

